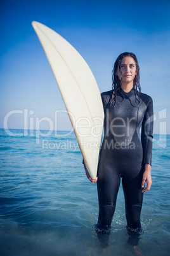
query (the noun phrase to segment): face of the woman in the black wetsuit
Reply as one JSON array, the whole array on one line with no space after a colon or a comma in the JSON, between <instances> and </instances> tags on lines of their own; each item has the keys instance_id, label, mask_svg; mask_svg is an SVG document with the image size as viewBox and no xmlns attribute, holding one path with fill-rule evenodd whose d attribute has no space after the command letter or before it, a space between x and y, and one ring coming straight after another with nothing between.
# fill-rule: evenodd
<instances>
[{"instance_id":1,"label":"face of the woman in the black wetsuit","mask_svg":"<svg viewBox=\"0 0 170 256\"><path fill-rule=\"evenodd\" d=\"M133 83L134 77L136 76L136 62L133 57L124 57L121 60L120 66L119 79L121 83Z\"/></svg>"}]
</instances>

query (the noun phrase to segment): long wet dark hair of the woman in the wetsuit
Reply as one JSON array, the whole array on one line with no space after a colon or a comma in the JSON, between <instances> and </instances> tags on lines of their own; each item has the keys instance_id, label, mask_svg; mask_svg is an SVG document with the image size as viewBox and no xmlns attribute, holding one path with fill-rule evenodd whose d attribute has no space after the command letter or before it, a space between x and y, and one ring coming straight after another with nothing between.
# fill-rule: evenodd
<instances>
[{"instance_id":1,"label":"long wet dark hair of the woman in the wetsuit","mask_svg":"<svg viewBox=\"0 0 170 256\"><path fill-rule=\"evenodd\" d=\"M124 57L132 57L136 63L136 76L134 77L133 80L133 89L134 89L134 94L135 97L137 96L138 91L141 91L141 87L140 87L140 66L138 64L138 59L136 57L136 55L132 52L124 52L121 53L117 59L115 60L115 64L114 64L114 69L112 70L112 89L114 90L113 94L112 94L112 99L111 101L116 103L116 99L117 99L117 92L121 93L121 80L119 79L119 77L122 75L121 74L121 61ZM122 76L121 76L122 77ZM122 94L123 98L124 95ZM136 101L138 101L137 97L136 97ZM139 103L139 102L138 102Z\"/></svg>"}]
</instances>

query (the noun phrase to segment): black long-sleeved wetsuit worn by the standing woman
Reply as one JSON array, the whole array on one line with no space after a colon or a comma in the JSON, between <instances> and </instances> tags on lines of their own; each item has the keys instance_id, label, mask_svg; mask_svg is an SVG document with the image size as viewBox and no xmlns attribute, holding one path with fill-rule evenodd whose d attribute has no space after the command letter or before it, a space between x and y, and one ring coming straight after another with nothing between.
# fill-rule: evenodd
<instances>
[{"instance_id":1,"label":"black long-sleeved wetsuit worn by the standing woman","mask_svg":"<svg viewBox=\"0 0 170 256\"><path fill-rule=\"evenodd\" d=\"M128 93L121 89L116 103L110 103L112 93L101 94L105 134L98 164L98 226L111 225L122 178L127 227L140 229L141 181L145 164L152 160L152 98L140 92L135 96L133 89Z\"/></svg>"}]
</instances>

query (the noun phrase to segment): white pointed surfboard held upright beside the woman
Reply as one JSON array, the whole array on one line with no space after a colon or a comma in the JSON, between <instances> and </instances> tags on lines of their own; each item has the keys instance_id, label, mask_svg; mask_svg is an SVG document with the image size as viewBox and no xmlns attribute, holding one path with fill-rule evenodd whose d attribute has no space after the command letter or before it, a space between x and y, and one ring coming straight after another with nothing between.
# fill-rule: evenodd
<instances>
[{"instance_id":1,"label":"white pointed surfboard held upright beside the woman","mask_svg":"<svg viewBox=\"0 0 170 256\"><path fill-rule=\"evenodd\" d=\"M95 77L86 61L62 36L32 22L67 108L82 157L96 178L103 130L103 104Z\"/></svg>"}]
</instances>

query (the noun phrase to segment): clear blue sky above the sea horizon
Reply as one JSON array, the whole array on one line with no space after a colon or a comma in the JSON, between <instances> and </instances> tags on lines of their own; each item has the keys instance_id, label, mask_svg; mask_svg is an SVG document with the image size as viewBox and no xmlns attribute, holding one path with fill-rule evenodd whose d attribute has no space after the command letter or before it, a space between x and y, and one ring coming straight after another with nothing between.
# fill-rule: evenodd
<instances>
[{"instance_id":1,"label":"clear blue sky above the sea horizon","mask_svg":"<svg viewBox=\"0 0 170 256\"><path fill-rule=\"evenodd\" d=\"M2 0L0 127L3 128L4 117L13 110L18 113L10 116L8 126L16 129L23 128L24 109L28 125L32 118L34 128L36 118L54 120L55 110L65 110L31 25L36 20L61 34L81 53L95 75L100 92L112 87L111 72L117 56L134 52L140 64L142 92L154 100L157 118L154 133L159 133L160 122L167 122L170 133L169 11L170 1L165 0ZM41 122L41 129L48 128L48 122ZM70 129L66 114L58 115L58 129Z\"/></svg>"}]
</instances>

